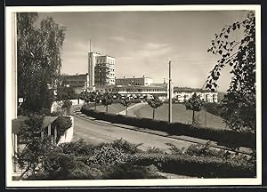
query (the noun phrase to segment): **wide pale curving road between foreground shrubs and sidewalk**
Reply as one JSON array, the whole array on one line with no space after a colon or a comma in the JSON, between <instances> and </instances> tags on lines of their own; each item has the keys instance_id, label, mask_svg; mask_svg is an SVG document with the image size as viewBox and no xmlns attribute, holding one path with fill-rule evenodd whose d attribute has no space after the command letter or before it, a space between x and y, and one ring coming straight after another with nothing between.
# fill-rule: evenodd
<instances>
[{"instance_id":1,"label":"wide pale curving road between foreground shrubs and sidewalk","mask_svg":"<svg viewBox=\"0 0 267 192\"><path fill-rule=\"evenodd\" d=\"M72 141L84 139L88 143L99 144L101 142L111 142L112 140L127 140L138 144L142 143L140 149L161 148L168 150L166 143L173 143L178 148L188 148L192 143L183 140L175 140L146 132L137 132L112 124L102 124L99 120L91 120L77 116L73 109L71 116L74 116L74 135Z\"/></svg>"}]
</instances>

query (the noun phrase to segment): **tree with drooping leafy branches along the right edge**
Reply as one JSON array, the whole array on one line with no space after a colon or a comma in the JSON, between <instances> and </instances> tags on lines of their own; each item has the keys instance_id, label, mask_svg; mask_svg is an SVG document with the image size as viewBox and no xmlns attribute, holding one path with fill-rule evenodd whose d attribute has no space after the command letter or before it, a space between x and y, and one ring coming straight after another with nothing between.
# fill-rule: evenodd
<instances>
[{"instance_id":1,"label":"tree with drooping leafy branches along the right edge","mask_svg":"<svg viewBox=\"0 0 267 192\"><path fill-rule=\"evenodd\" d=\"M238 31L240 40L231 40ZM243 21L229 25L215 34L212 46L207 50L221 58L217 60L206 80L206 88L214 91L218 86L220 71L231 67L231 84L222 100L225 123L232 130L255 132L255 14L249 12Z\"/></svg>"}]
</instances>

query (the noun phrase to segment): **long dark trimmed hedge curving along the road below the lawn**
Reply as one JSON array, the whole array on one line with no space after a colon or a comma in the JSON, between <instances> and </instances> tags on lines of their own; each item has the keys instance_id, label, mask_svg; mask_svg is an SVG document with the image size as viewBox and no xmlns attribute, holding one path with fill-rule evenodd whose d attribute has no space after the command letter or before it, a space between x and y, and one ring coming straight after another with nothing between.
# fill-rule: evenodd
<instances>
[{"instance_id":1,"label":"long dark trimmed hedge curving along the road below the lawn","mask_svg":"<svg viewBox=\"0 0 267 192\"><path fill-rule=\"evenodd\" d=\"M168 123L166 121L153 120L150 118L141 118L135 116L122 116L109 114L85 107L81 112L86 116L109 121L117 124L128 124L132 126L148 128L155 131L163 131L173 135L187 135L204 140L214 140L218 145L224 145L230 148L255 148L255 134L252 132L235 132L231 130L214 129L208 127L196 127L190 124Z\"/></svg>"}]
</instances>

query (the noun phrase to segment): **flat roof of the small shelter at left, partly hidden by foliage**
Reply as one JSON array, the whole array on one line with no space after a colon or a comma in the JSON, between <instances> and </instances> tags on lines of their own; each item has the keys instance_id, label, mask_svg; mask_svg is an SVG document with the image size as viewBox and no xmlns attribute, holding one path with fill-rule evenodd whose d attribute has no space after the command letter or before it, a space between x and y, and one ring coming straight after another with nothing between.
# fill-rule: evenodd
<instances>
[{"instance_id":1,"label":"flat roof of the small shelter at left, partly hidden by foliage","mask_svg":"<svg viewBox=\"0 0 267 192\"><path fill-rule=\"evenodd\" d=\"M49 124L52 124L54 120L56 120L58 116L44 116L44 121L42 124L42 129L47 127ZM18 116L16 119L12 119L12 133L20 132L20 128L22 123L28 119L28 116Z\"/></svg>"}]
</instances>

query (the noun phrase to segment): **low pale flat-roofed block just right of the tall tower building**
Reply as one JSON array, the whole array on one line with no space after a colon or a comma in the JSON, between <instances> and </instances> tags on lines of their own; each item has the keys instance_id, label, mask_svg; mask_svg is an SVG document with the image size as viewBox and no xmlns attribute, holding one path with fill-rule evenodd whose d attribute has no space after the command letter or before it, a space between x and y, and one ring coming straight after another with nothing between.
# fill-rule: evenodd
<instances>
[{"instance_id":1,"label":"low pale flat-roofed block just right of the tall tower building","mask_svg":"<svg viewBox=\"0 0 267 192\"><path fill-rule=\"evenodd\" d=\"M116 78L115 84L117 85L143 85L143 86L150 86L153 84L153 79L150 77L138 77L138 78Z\"/></svg>"}]
</instances>

